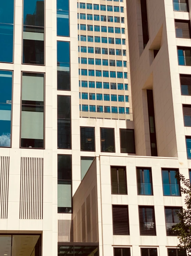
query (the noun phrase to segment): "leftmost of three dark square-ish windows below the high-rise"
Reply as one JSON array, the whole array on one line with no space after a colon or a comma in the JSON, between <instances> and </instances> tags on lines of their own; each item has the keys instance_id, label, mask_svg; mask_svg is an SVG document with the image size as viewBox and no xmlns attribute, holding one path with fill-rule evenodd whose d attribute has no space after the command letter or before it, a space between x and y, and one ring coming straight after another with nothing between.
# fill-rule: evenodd
<instances>
[{"instance_id":1,"label":"leftmost of three dark square-ish windows below the high-rise","mask_svg":"<svg viewBox=\"0 0 191 256\"><path fill-rule=\"evenodd\" d=\"M94 127L80 127L81 151L95 151Z\"/></svg>"}]
</instances>

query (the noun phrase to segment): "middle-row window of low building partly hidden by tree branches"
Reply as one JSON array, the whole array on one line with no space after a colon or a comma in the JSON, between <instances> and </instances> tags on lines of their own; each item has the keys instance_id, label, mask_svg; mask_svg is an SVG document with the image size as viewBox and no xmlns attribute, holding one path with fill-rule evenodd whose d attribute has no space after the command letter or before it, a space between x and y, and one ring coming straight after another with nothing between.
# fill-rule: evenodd
<instances>
[{"instance_id":1,"label":"middle-row window of low building partly hidden by tree branches","mask_svg":"<svg viewBox=\"0 0 191 256\"><path fill-rule=\"evenodd\" d=\"M165 222L167 229L167 236L178 236L179 232L173 231L177 223L180 222L178 212L181 210L180 207L165 207Z\"/></svg>"}]
</instances>

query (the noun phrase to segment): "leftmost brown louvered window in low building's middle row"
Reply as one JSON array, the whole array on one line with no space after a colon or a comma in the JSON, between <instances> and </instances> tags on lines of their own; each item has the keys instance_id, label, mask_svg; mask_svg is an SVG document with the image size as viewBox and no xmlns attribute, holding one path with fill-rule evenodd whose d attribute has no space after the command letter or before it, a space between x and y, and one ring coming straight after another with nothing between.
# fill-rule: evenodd
<instances>
[{"instance_id":1,"label":"leftmost brown louvered window in low building's middle row","mask_svg":"<svg viewBox=\"0 0 191 256\"><path fill-rule=\"evenodd\" d=\"M112 205L113 235L129 235L128 205Z\"/></svg>"}]
</instances>

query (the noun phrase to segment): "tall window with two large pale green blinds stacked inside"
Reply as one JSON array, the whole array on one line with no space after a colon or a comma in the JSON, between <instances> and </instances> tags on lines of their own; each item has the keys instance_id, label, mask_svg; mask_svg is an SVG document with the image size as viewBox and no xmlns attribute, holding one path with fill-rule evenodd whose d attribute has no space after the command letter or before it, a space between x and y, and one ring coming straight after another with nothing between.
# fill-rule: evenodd
<instances>
[{"instance_id":1,"label":"tall window with two large pale green blinds stacked inside","mask_svg":"<svg viewBox=\"0 0 191 256\"><path fill-rule=\"evenodd\" d=\"M22 72L21 148L44 148L44 74Z\"/></svg>"}]
</instances>

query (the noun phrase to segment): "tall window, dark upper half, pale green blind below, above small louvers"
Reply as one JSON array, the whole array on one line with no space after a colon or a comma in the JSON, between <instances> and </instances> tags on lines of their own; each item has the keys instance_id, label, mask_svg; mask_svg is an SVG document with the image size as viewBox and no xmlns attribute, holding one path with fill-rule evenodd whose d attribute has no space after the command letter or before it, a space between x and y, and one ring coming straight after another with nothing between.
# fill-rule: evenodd
<instances>
[{"instance_id":1,"label":"tall window, dark upper half, pale green blind below, above small louvers","mask_svg":"<svg viewBox=\"0 0 191 256\"><path fill-rule=\"evenodd\" d=\"M70 155L58 155L58 212L72 212L72 167Z\"/></svg>"}]
</instances>

